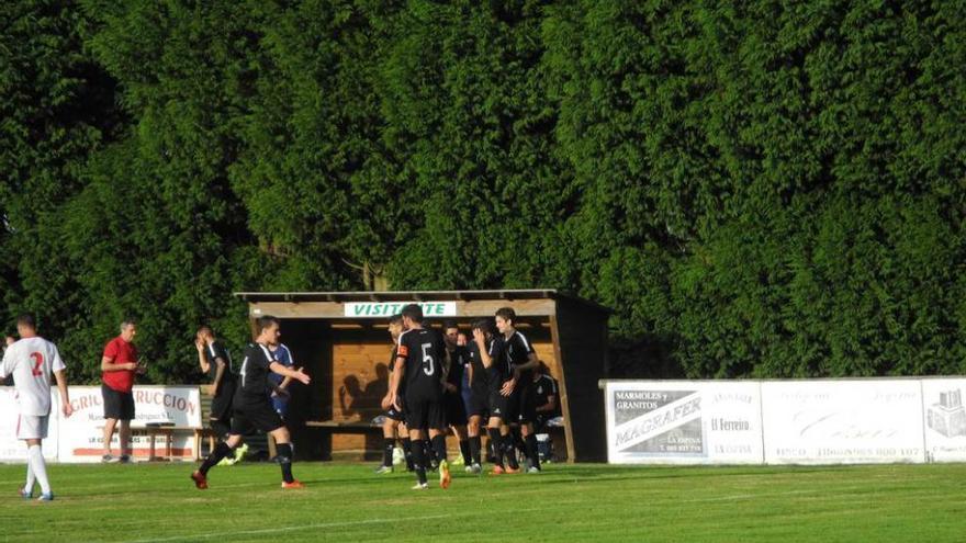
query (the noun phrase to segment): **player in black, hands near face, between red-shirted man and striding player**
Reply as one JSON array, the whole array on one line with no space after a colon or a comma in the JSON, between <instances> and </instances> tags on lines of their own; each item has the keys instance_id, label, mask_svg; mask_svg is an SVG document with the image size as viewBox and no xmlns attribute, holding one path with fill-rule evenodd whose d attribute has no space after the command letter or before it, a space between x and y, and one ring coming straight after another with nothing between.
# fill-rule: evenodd
<instances>
[{"instance_id":1,"label":"player in black, hands near face, between red-shirted man and striding player","mask_svg":"<svg viewBox=\"0 0 966 543\"><path fill-rule=\"evenodd\" d=\"M198 329L194 347L198 349L201 371L211 378L212 407L209 426L220 439L227 439L228 432L232 431L232 400L235 397L236 385L232 357L209 326Z\"/></svg>"}]
</instances>

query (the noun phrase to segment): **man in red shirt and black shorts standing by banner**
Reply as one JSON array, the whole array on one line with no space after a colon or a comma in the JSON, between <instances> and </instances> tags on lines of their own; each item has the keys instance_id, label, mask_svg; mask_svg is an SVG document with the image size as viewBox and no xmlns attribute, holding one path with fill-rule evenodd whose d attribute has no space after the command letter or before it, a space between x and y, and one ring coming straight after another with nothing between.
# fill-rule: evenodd
<instances>
[{"instance_id":1,"label":"man in red shirt and black shorts standing by banner","mask_svg":"<svg viewBox=\"0 0 966 543\"><path fill-rule=\"evenodd\" d=\"M121 323L121 335L108 342L101 359L101 394L104 398L104 455L101 460L110 462L111 438L117 426L119 449L122 463L131 461L131 420L134 419L134 375L143 373L137 365L137 348L132 341L137 333L137 325L127 319ZM117 425L117 422L121 422Z\"/></svg>"}]
</instances>

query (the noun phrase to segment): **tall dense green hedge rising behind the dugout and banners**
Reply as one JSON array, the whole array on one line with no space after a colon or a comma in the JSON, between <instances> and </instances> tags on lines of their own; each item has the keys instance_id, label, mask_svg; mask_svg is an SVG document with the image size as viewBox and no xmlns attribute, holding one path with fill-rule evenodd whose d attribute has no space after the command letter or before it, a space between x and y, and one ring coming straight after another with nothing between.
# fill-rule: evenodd
<instances>
[{"instance_id":1,"label":"tall dense green hedge rising behind the dugout and banners","mask_svg":"<svg viewBox=\"0 0 966 543\"><path fill-rule=\"evenodd\" d=\"M627 374L961 373L964 67L962 2L8 2L0 318L182 381L234 291L540 286Z\"/></svg>"}]
</instances>

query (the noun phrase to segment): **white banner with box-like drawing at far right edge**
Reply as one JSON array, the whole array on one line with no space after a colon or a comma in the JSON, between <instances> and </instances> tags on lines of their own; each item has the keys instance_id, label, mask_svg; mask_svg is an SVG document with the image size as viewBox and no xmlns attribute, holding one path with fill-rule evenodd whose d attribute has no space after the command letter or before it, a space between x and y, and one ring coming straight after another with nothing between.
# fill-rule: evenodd
<instances>
[{"instance_id":1,"label":"white banner with box-like drawing at far right edge","mask_svg":"<svg viewBox=\"0 0 966 543\"><path fill-rule=\"evenodd\" d=\"M966 378L922 380L929 462L966 462Z\"/></svg>"}]
</instances>

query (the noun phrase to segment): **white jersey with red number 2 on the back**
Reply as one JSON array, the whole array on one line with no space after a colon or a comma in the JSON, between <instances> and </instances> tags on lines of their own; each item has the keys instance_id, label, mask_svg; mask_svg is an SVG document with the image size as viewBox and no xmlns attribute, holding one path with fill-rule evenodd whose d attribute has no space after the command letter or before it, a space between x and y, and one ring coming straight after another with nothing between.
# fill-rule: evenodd
<instances>
[{"instance_id":1,"label":"white jersey with red number 2 on the back","mask_svg":"<svg viewBox=\"0 0 966 543\"><path fill-rule=\"evenodd\" d=\"M7 348L0 377L13 375L21 415L43 417L50 414L50 374L64 369L57 346L35 336Z\"/></svg>"}]
</instances>

